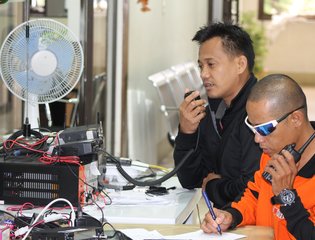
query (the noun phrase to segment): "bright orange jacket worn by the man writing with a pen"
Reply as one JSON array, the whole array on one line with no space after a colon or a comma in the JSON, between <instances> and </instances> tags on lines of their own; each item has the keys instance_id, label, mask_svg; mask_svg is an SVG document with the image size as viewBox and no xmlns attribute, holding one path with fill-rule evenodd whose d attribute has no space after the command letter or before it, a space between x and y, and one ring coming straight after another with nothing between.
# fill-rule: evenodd
<instances>
[{"instance_id":1,"label":"bright orange jacket worn by the man writing with a pen","mask_svg":"<svg viewBox=\"0 0 315 240\"><path fill-rule=\"evenodd\" d=\"M277 240L285 239L315 239L315 155L298 172L293 188L297 198L290 206L272 205L270 199L274 196L271 184L262 177L266 163L270 157L262 154L260 170L254 175L238 202L232 203L236 224L270 226L274 229ZM236 211L237 212L237 211ZM242 216L237 219L237 215Z\"/></svg>"}]
</instances>

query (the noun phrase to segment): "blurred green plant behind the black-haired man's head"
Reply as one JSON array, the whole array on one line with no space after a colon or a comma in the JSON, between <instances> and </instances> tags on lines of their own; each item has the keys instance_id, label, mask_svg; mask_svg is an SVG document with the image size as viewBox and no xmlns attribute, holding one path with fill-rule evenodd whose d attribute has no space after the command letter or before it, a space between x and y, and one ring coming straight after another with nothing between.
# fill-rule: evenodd
<instances>
[{"instance_id":1,"label":"blurred green plant behind the black-haired man's head","mask_svg":"<svg viewBox=\"0 0 315 240\"><path fill-rule=\"evenodd\" d=\"M244 12L241 16L241 25L253 40L255 51L254 73L259 76L264 71L264 59L267 53L264 25L257 20L254 12Z\"/></svg>"}]
</instances>

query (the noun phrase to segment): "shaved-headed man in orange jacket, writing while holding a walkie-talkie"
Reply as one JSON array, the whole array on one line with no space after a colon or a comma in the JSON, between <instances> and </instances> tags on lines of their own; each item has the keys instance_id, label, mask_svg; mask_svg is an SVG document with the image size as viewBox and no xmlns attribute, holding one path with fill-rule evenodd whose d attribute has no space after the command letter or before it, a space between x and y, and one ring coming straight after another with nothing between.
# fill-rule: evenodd
<instances>
[{"instance_id":1,"label":"shaved-headed man in orange jacket, writing while holding a walkie-talkie","mask_svg":"<svg viewBox=\"0 0 315 240\"><path fill-rule=\"evenodd\" d=\"M201 228L261 225L272 227L275 239L315 239L315 125L302 89L286 75L268 75L252 88L246 110L263 150L260 170L240 199L214 208L216 220L207 213Z\"/></svg>"}]
</instances>

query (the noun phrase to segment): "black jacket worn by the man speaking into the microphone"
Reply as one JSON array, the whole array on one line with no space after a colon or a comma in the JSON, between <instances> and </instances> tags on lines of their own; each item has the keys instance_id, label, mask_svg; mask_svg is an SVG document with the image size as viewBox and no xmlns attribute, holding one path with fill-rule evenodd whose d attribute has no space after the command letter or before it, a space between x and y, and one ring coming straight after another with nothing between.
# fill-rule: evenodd
<instances>
[{"instance_id":1,"label":"black jacket worn by the man speaking into the microphone","mask_svg":"<svg viewBox=\"0 0 315 240\"><path fill-rule=\"evenodd\" d=\"M177 173L184 188L201 187L202 180L210 172L222 176L221 179L208 182L206 186L209 199L218 208L241 194L259 168L262 151L244 122L247 116L246 100L256 82L257 79L251 75L231 106L225 110L221 118L223 130L216 127L218 120L215 117L222 99L208 99L209 107L206 117L200 122L199 130L194 134L179 132L175 139L175 165L181 162L189 150L196 149Z\"/></svg>"}]
</instances>

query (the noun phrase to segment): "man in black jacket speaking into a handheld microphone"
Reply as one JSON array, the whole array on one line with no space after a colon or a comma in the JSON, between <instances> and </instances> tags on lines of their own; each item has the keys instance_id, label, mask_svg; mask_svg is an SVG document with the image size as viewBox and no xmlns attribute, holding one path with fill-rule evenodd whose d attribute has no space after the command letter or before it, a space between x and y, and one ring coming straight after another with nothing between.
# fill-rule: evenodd
<instances>
[{"instance_id":1,"label":"man in black jacket speaking into a handheld microphone","mask_svg":"<svg viewBox=\"0 0 315 240\"><path fill-rule=\"evenodd\" d=\"M180 105L175 140L175 165L191 149L193 154L178 171L185 188L202 187L216 207L233 201L259 168L261 150L244 123L245 104L252 86L255 53L250 36L239 26L214 23L194 36L198 64L208 95L195 100L193 92Z\"/></svg>"}]
</instances>

